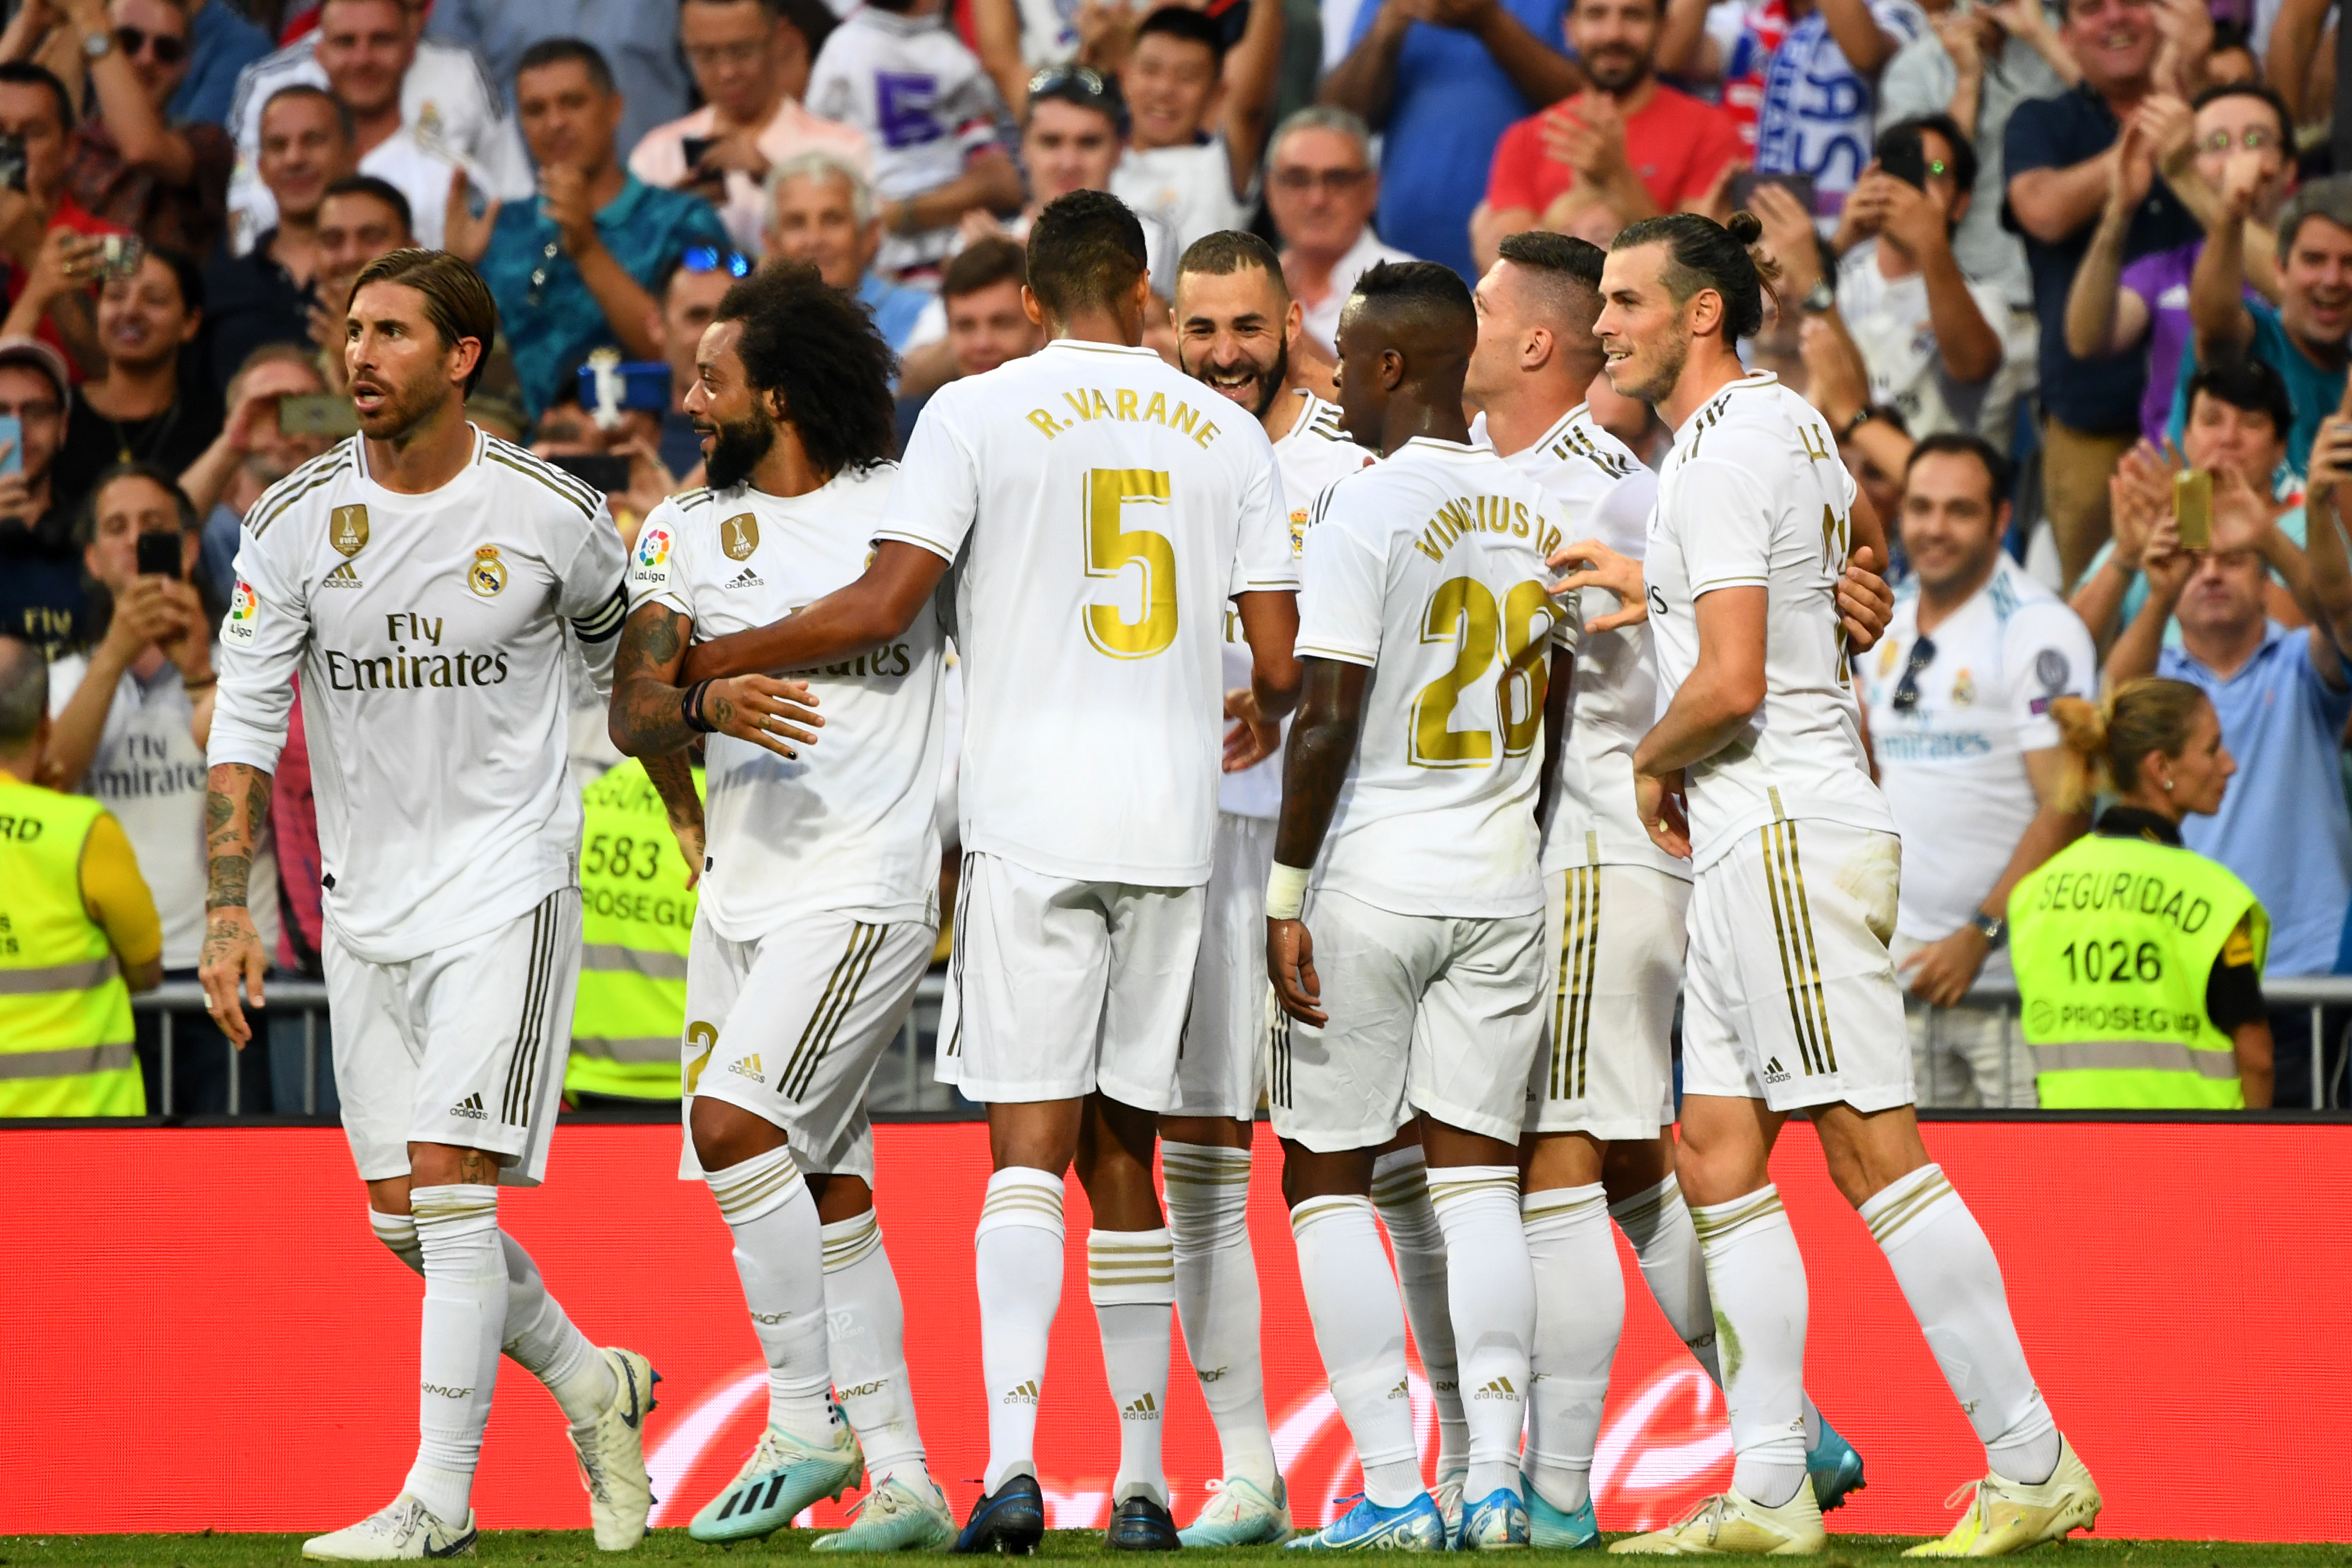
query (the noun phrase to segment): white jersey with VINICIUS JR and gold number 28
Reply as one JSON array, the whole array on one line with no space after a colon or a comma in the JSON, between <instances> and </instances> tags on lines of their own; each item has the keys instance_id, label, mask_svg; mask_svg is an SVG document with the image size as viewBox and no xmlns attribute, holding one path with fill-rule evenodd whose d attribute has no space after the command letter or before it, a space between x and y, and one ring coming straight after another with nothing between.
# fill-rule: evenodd
<instances>
[{"instance_id":1,"label":"white jersey with VINICIUS JR and gold number 28","mask_svg":"<svg viewBox=\"0 0 2352 1568\"><path fill-rule=\"evenodd\" d=\"M1543 910L1536 773L1555 508L1491 447L1411 440L1315 501L1301 658L1371 665L1317 886L1397 914Z\"/></svg>"}]
</instances>

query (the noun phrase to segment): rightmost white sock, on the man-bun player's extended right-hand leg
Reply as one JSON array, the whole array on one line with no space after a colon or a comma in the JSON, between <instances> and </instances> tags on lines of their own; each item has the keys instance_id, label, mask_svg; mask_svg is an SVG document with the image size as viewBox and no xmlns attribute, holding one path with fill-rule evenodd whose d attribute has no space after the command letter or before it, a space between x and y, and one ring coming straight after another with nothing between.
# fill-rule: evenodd
<instances>
[{"instance_id":1,"label":"rightmost white sock, on the man-bun player's extended right-hand leg","mask_svg":"<svg viewBox=\"0 0 2352 1568\"><path fill-rule=\"evenodd\" d=\"M1863 1222L1886 1253L1952 1396L1997 1476L2039 1486L2058 1469L2058 1427L2025 1366L2009 1316L2002 1262L1940 1166L1919 1166L1867 1204Z\"/></svg>"}]
</instances>

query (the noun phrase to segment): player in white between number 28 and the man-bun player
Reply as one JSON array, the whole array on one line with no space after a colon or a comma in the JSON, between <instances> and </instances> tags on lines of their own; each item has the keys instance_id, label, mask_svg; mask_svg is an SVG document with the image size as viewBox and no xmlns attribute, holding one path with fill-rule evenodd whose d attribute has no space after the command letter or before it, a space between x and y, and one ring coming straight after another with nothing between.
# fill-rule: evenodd
<instances>
[{"instance_id":1,"label":"player in white between number 28 and the man-bun player","mask_svg":"<svg viewBox=\"0 0 2352 1568\"><path fill-rule=\"evenodd\" d=\"M1477 353L1463 390L1482 433L1559 505L1564 527L1642 559L1658 477L1592 421L1602 374L1592 336L1604 252L1543 230L1503 240L1477 282ZM1576 557L1581 545L1569 545ZM1545 1048L1526 1088L1522 1218L1536 1269L1534 1382L1526 1394L1526 1512L1538 1547L1597 1540L1592 1448L1609 1363L1625 1328L1613 1218L1658 1307L1722 1382L1698 1234L1675 1185L1675 997L1682 990L1691 865L1642 832L1632 748L1658 715L1642 625L1592 630L1621 604L1595 588L1585 635L1555 654L1545 724ZM1566 724L1571 703L1576 722ZM1806 1472L1823 1507L1863 1465L1806 1401Z\"/></svg>"}]
</instances>

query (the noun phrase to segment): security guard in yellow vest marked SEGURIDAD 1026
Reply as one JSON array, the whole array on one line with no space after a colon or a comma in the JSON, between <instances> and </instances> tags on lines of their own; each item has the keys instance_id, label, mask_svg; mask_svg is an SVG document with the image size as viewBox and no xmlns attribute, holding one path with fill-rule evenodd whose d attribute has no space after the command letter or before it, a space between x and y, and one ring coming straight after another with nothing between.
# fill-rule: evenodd
<instances>
[{"instance_id":1,"label":"security guard in yellow vest marked SEGURIDAD 1026","mask_svg":"<svg viewBox=\"0 0 2352 1568\"><path fill-rule=\"evenodd\" d=\"M2100 708L2058 698L2070 804L2117 799L2084 839L2009 896L2025 1044L2044 1110L2244 1110L2270 1105L2263 954L2270 917L2216 860L2180 846L2237 762L2213 703L2176 679L2136 679Z\"/></svg>"}]
</instances>

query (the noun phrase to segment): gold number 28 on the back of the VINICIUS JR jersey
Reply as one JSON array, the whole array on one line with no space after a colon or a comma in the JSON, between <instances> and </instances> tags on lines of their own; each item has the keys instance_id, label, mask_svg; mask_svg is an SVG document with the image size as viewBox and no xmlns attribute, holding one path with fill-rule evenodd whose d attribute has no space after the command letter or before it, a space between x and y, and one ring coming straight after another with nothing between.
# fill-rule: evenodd
<instances>
[{"instance_id":1,"label":"gold number 28 on the back of the VINICIUS JR jersey","mask_svg":"<svg viewBox=\"0 0 2352 1568\"><path fill-rule=\"evenodd\" d=\"M1552 602L1543 583L1515 583L1496 609L1494 590L1477 578L1446 578L1430 595L1421 616L1421 642L1451 642L1454 668L1432 679L1414 698L1414 733L1406 757L1416 769L1494 766L1491 729L1454 729L1461 693L1486 677L1496 656L1496 717L1503 726L1503 755L1522 757L1543 733L1543 686L1550 675L1545 632L1552 630Z\"/></svg>"}]
</instances>

